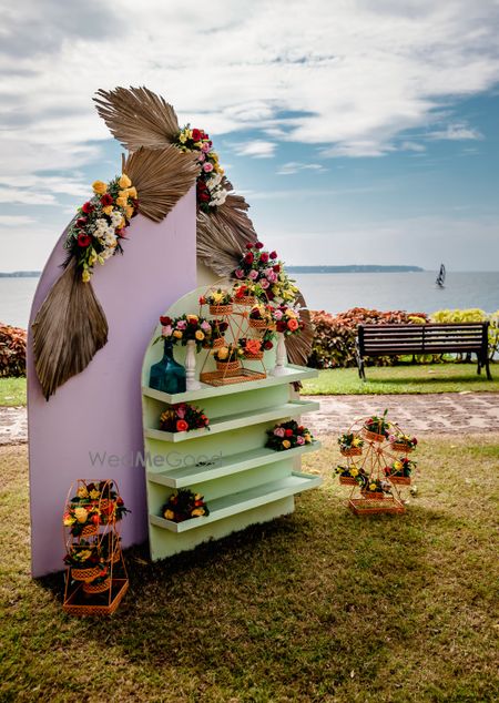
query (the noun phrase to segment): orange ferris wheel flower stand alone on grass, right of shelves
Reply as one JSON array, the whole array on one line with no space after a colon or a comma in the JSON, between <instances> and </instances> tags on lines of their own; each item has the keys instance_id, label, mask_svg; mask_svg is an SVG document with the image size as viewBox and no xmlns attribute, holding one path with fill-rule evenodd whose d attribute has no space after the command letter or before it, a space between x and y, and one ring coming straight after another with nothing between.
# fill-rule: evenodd
<instances>
[{"instance_id":1,"label":"orange ferris wheel flower stand alone on grass, right of shelves","mask_svg":"<svg viewBox=\"0 0 499 703\"><path fill-rule=\"evenodd\" d=\"M373 419L375 421L373 421ZM352 486L348 508L357 516L394 513L406 511L400 495L410 486L410 471L416 466L408 458L417 440L400 429L397 422L383 417L356 419L343 437L349 446L342 446L340 454L346 467L338 467L339 483Z\"/></svg>"}]
</instances>

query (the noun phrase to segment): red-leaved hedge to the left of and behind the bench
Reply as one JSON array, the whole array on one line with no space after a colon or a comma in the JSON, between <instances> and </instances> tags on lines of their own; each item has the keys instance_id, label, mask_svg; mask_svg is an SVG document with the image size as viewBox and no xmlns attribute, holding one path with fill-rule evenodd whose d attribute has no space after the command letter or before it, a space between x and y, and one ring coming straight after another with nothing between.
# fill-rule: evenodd
<instances>
[{"instance_id":1,"label":"red-leaved hedge to the left of and behind the bench","mask_svg":"<svg viewBox=\"0 0 499 703\"><path fill-rule=\"evenodd\" d=\"M390 310L380 313L364 307L354 307L346 313L329 315L329 313L312 312L315 337L308 365L313 368L335 368L357 366L355 359L355 339L357 325L360 324L421 324L428 322L425 313L405 313ZM367 361L376 366L388 366L394 357L368 358Z\"/></svg>"}]
</instances>

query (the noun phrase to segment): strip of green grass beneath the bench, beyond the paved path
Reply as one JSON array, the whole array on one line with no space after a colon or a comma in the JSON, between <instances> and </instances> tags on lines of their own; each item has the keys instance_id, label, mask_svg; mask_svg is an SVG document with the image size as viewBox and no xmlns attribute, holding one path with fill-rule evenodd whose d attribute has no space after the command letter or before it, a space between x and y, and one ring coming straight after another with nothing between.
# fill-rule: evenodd
<instances>
[{"instance_id":1,"label":"strip of green grass beneath the bench, beyond the paved path","mask_svg":"<svg viewBox=\"0 0 499 703\"><path fill-rule=\"evenodd\" d=\"M492 380L477 375L473 364L432 364L368 367L361 381L356 368L319 371L318 378L303 383L305 395L363 395L400 393L499 391L499 365L491 368Z\"/></svg>"}]
</instances>

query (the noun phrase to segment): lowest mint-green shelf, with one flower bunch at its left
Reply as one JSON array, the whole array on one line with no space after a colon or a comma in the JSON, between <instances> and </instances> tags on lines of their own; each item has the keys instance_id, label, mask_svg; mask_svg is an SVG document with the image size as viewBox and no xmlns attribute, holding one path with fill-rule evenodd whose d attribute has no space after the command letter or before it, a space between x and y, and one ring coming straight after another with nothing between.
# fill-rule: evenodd
<instances>
[{"instance_id":1,"label":"lowest mint-green shelf, with one flower bunch at its left","mask_svg":"<svg viewBox=\"0 0 499 703\"><path fill-rule=\"evenodd\" d=\"M304 490L315 488L322 483L319 476L308 473L292 472L289 476L269 483L262 483L255 488L249 488L240 493L232 493L208 501L210 514L206 518L192 518L184 522L172 522L159 516L150 514L151 524L170 530L171 532L186 532L200 527L228 518L245 510L252 510L266 503L301 493Z\"/></svg>"}]
</instances>

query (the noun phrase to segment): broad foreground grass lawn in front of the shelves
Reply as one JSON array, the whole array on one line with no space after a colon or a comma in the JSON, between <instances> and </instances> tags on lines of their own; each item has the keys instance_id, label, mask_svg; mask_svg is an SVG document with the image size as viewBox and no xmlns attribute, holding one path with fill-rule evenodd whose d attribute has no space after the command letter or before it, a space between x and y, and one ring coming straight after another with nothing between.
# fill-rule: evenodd
<instances>
[{"instance_id":1,"label":"broad foreground grass lawn in front of the shelves","mask_svg":"<svg viewBox=\"0 0 499 703\"><path fill-rule=\"evenodd\" d=\"M1 448L0 700L497 701L499 436L424 437L398 517L346 509L335 444L294 514L162 563L129 550L103 620L62 612L62 575L30 579L27 450Z\"/></svg>"}]
</instances>

